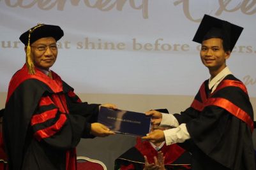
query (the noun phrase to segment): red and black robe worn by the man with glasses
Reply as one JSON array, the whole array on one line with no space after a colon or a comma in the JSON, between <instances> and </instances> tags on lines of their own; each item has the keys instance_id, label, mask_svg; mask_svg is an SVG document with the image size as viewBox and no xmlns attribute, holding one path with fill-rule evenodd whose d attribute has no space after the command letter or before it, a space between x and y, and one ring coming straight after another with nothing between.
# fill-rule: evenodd
<instances>
[{"instance_id":1,"label":"red and black robe worn by the man with glasses","mask_svg":"<svg viewBox=\"0 0 256 170\"><path fill-rule=\"evenodd\" d=\"M10 170L76 169L75 146L96 122L98 104L81 103L72 87L27 67L10 81L3 136Z\"/></svg>"}]
</instances>

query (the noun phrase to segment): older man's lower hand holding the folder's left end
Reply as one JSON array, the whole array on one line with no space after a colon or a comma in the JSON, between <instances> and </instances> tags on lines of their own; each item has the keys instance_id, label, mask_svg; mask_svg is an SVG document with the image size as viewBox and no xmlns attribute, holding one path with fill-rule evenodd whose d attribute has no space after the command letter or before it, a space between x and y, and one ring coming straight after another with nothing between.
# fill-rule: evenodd
<instances>
[{"instance_id":1,"label":"older man's lower hand holding the folder's left end","mask_svg":"<svg viewBox=\"0 0 256 170\"><path fill-rule=\"evenodd\" d=\"M110 129L103 124L93 123L91 124L91 134L98 137L106 137L115 134L115 132L110 131Z\"/></svg>"}]
</instances>

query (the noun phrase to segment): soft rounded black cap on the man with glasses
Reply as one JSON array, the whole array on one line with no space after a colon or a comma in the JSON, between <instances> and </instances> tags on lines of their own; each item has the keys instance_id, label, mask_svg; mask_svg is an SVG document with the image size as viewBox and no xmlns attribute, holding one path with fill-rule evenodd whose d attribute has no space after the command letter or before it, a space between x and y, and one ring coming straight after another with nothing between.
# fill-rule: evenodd
<instances>
[{"instance_id":1,"label":"soft rounded black cap on the man with glasses","mask_svg":"<svg viewBox=\"0 0 256 170\"><path fill-rule=\"evenodd\" d=\"M30 35L29 35L30 33ZM24 43L24 45L28 45L28 43L32 44L34 41L45 38L45 37L53 37L54 39L59 40L64 35L61 27L57 25L46 25L46 24L38 24L28 31L24 32L20 36L20 41ZM30 36L30 38L29 38ZM30 39L30 42L29 42Z\"/></svg>"}]
</instances>

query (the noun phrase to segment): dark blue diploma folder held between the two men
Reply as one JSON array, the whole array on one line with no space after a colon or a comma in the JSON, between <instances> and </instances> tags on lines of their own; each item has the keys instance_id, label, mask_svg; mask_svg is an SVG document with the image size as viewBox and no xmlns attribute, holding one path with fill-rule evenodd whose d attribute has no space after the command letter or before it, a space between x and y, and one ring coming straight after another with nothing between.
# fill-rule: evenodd
<instances>
[{"instance_id":1,"label":"dark blue diploma folder held between the two men","mask_svg":"<svg viewBox=\"0 0 256 170\"><path fill-rule=\"evenodd\" d=\"M151 117L134 111L112 110L100 107L98 122L117 133L146 136L150 131Z\"/></svg>"}]
</instances>

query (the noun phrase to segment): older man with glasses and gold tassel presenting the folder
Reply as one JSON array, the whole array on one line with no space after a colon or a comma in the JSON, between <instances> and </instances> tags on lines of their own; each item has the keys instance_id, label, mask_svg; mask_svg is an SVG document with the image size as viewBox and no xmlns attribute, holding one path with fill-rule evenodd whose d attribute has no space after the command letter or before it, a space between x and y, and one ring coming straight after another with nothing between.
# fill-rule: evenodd
<instances>
[{"instance_id":1,"label":"older man with glasses and gold tassel presenting the folder","mask_svg":"<svg viewBox=\"0 0 256 170\"><path fill-rule=\"evenodd\" d=\"M20 41L26 64L11 78L3 116L3 137L10 170L73 170L80 138L109 136L95 123L100 104L82 103L73 88L50 67L63 30L39 24ZM103 104L116 108L114 104Z\"/></svg>"}]
</instances>

